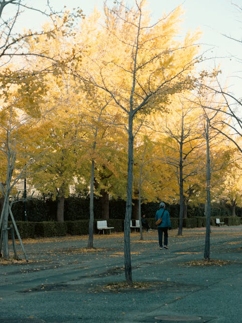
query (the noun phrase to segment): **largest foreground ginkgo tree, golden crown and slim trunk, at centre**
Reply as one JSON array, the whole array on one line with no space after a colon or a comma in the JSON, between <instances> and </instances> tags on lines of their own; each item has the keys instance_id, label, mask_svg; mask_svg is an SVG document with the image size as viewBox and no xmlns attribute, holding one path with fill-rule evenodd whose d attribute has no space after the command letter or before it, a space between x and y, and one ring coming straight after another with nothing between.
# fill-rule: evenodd
<instances>
[{"instance_id":1,"label":"largest foreground ginkgo tree, golden crown and slim trunk, at centre","mask_svg":"<svg viewBox=\"0 0 242 323\"><path fill-rule=\"evenodd\" d=\"M171 95L193 87L197 78L194 76L195 65L200 61L196 57L198 47L194 45L197 34L188 34L180 42L174 39L179 31L181 8L153 24L145 10L146 5L145 0L136 1L131 9L119 1L112 8L105 4L105 25L102 28L98 25L92 40L89 32L89 48L82 51L81 57L82 63L86 64L75 71L80 80L85 79L108 93L117 109L127 115L124 254L128 283L132 283L129 226L133 194L134 118L140 111L144 114L152 110L165 112ZM79 43L79 48L84 48L83 44Z\"/></svg>"}]
</instances>

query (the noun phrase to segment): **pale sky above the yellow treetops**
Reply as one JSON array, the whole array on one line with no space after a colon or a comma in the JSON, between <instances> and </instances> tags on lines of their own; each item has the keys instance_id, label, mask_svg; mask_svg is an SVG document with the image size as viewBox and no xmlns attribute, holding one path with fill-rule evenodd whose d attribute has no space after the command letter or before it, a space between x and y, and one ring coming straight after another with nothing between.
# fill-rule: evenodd
<instances>
[{"instance_id":1,"label":"pale sky above the yellow treetops","mask_svg":"<svg viewBox=\"0 0 242 323\"><path fill-rule=\"evenodd\" d=\"M26 2L33 7L46 3L45 0L41 0L41 2L40 0L26 0ZM124 2L130 6L135 3L135 0ZM92 12L95 6L98 10L103 8L103 0L50 0L50 3L56 9L61 9L64 5L68 9L79 6L86 16ZM113 0L107 0L107 3L111 5ZM232 4L235 3L242 7L242 0L148 0L148 3L154 21L160 18L164 12L168 13L181 4L185 11L184 22L181 25L183 28L181 36L184 32L194 31L199 27L203 32L200 43L207 44L203 47L204 50L209 48L206 57L212 58L206 62L206 68L210 69L214 65L220 64L220 68L223 70L221 80L227 79L230 90L237 97L242 97L242 43L222 35L226 34L242 40L242 11ZM22 25L32 29L32 27L38 28L41 22L34 16L29 16L28 19L23 18Z\"/></svg>"}]
</instances>

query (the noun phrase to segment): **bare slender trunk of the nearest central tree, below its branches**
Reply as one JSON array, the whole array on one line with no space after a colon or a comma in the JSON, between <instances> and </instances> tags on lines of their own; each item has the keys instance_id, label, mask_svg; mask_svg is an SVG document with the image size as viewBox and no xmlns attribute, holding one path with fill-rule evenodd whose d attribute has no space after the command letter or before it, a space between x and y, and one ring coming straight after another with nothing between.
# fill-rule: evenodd
<instances>
[{"instance_id":1,"label":"bare slender trunk of the nearest central tree, below its branches","mask_svg":"<svg viewBox=\"0 0 242 323\"><path fill-rule=\"evenodd\" d=\"M132 193L133 193L133 163L134 163L134 136L133 136L133 115L129 114L129 148L128 148L128 182L127 200L124 220L124 268L125 278L128 284L132 284L132 267L130 254L130 221L132 215Z\"/></svg>"}]
</instances>

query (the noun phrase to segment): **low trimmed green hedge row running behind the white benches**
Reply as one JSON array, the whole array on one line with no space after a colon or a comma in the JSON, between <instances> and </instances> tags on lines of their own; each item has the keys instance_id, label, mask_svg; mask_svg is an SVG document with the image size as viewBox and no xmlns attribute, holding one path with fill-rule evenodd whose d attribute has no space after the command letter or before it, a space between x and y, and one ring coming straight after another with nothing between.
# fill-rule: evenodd
<instances>
[{"instance_id":1,"label":"low trimmed green hedge row running behind the white benches","mask_svg":"<svg viewBox=\"0 0 242 323\"><path fill-rule=\"evenodd\" d=\"M215 226L215 217L211 218L211 226ZM179 219L171 218L171 226L173 229L178 228ZM93 232L98 233L97 221L94 220ZM148 219L151 228L156 228L155 219ZM242 224L241 217L224 217L220 218L221 222L225 222L227 226L238 226ZM9 223L10 225L11 223ZM43 222L29 222L29 221L16 221L16 225L22 239L36 238L36 237L63 237L66 235L87 235L89 233L89 220L77 220L77 221L65 221L65 222L53 222L53 221L43 221ZM122 219L109 219L107 220L108 226L114 226L112 231L123 232L124 221ZM193 227L205 227L206 218L194 217L183 219L183 227L193 228ZM107 234L109 232L106 232ZM9 232L9 238L10 232Z\"/></svg>"}]
</instances>

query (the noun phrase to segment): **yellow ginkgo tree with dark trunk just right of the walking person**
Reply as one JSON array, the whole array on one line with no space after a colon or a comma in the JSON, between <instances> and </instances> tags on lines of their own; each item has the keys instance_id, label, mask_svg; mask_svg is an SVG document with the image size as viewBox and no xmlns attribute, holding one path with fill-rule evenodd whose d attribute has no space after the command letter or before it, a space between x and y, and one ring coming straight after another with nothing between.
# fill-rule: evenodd
<instances>
[{"instance_id":1,"label":"yellow ginkgo tree with dark trunk just right of the walking person","mask_svg":"<svg viewBox=\"0 0 242 323\"><path fill-rule=\"evenodd\" d=\"M167 115L163 123L159 125L163 136L167 138L166 162L174 168L174 176L179 185L179 229L178 235L182 235L182 223L184 216L185 190L188 188L191 178L201 174L203 156L200 162L197 151L204 145L201 126L199 125L199 109L186 100L177 96L171 103L172 117Z\"/></svg>"}]
</instances>

